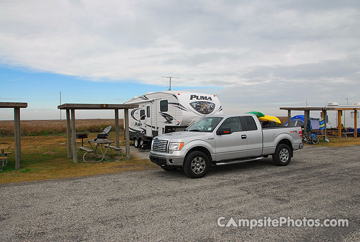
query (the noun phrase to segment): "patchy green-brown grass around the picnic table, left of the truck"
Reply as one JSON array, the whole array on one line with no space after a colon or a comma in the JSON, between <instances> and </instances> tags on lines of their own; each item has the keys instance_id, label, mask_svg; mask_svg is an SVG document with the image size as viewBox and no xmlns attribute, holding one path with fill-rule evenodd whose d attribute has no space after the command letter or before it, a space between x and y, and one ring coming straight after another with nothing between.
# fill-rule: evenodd
<instances>
[{"instance_id":1,"label":"patchy green-brown grass around the picnic table, left of the truck","mask_svg":"<svg viewBox=\"0 0 360 242\"><path fill-rule=\"evenodd\" d=\"M89 134L89 138L96 137L96 133ZM78 177L95 174L122 172L126 170L141 170L156 167L150 160L136 158L123 158L114 161L101 161L99 163L83 162L83 152L79 151L78 163L67 158L67 139L62 136L25 136L21 138L22 158L20 169L15 170L14 137L2 137L0 143L11 146L8 164L0 171L0 183L16 183L21 181L34 181L64 177ZM120 144L123 142L123 134L120 135ZM81 143L77 142L78 146ZM85 146L89 146L84 142ZM39 148L37 148L39 147ZM110 157L118 159L115 152Z\"/></svg>"}]
</instances>

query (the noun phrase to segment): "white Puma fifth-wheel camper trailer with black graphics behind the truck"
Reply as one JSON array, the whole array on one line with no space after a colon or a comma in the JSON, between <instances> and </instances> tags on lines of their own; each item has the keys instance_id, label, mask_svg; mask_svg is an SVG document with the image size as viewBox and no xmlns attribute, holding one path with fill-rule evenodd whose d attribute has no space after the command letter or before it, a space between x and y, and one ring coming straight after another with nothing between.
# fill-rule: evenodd
<instances>
[{"instance_id":1,"label":"white Puma fifth-wheel camper trailer with black graphics behind the truck","mask_svg":"<svg viewBox=\"0 0 360 242\"><path fill-rule=\"evenodd\" d=\"M194 118L223 113L216 95L196 92L149 92L125 104L139 104L129 109L129 137L136 148L158 135L184 130Z\"/></svg>"}]
</instances>

